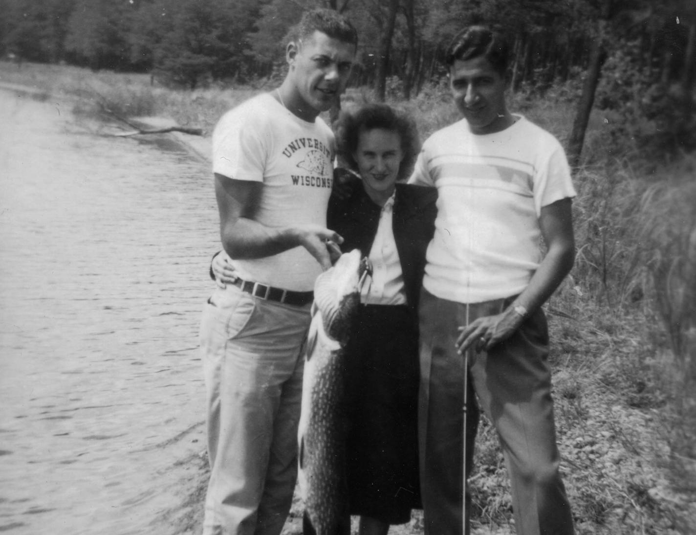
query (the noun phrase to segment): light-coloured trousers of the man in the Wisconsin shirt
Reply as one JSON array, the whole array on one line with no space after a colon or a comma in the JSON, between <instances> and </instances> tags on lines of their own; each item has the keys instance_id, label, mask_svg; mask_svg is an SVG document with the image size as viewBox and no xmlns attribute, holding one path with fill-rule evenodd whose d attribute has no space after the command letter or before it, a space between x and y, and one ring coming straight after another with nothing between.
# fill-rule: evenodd
<instances>
[{"instance_id":1,"label":"light-coloured trousers of the man in the Wisconsin shirt","mask_svg":"<svg viewBox=\"0 0 696 535\"><path fill-rule=\"evenodd\" d=\"M297 477L310 305L218 289L200 325L210 481L204 535L278 535Z\"/></svg>"}]
</instances>

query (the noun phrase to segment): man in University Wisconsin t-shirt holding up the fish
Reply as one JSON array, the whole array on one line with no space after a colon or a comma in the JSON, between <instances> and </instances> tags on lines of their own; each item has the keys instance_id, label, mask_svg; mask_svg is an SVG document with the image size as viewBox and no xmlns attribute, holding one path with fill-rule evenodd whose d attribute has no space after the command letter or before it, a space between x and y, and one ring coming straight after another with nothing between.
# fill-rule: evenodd
<instances>
[{"instance_id":1,"label":"man in University Wisconsin t-shirt holding up the fish","mask_svg":"<svg viewBox=\"0 0 696 535\"><path fill-rule=\"evenodd\" d=\"M211 467L204 535L278 535L296 481L303 344L326 228L334 141L318 117L345 90L353 26L306 13L283 84L228 111L213 134L223 249L239 277L208 300L200 327Z\"/></svg>"}]
</instances>

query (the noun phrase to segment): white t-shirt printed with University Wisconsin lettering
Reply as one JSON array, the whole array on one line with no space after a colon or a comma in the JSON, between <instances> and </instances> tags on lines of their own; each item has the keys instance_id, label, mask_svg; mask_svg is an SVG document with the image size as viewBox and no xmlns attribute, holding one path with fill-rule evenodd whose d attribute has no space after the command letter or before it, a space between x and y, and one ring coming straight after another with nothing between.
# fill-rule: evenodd
<instances>
[{"instance_id":1,"label":"white t-shirt printed with University Wisconsin lettering","mask_svg":"<svg viewBox=\"0 0 696 535\"><path fill-rule=\"evenodd\" d=\"M267 226L326 226L333 182L334 138L264 93L228 111L212 136L213 172L263 183L255 220ZM234 259L239 277L278 288L314 288L319 263L304 247L251 260Z\"/></svg>"}]
</instances>

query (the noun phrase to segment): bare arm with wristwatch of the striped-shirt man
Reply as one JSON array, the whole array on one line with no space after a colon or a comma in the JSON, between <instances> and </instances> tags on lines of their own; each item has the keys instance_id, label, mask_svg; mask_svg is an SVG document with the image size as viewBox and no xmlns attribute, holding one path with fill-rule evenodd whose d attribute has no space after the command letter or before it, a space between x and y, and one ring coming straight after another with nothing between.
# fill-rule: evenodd
<instances>
[{"instance_id":1,"label":"bare arm with wristwatch of the striped-shirt man","mask_svg":"<svg viewBox=\"0 0 696 535\"><path fill-rule=\"evenodd\" d=\"M514 305L521 305L528 314L543 305L570 272L575 261L575 240L571 199L561 199L541 208L539 227L548 248L532 279L517 297ZM525 318L508 307L496 316L478 318L461 327L457 339L459 352L473 346L478 350L490 349L512 335ZM482 341L483 339L483 341Z\"/></svg>"}]
</instances>

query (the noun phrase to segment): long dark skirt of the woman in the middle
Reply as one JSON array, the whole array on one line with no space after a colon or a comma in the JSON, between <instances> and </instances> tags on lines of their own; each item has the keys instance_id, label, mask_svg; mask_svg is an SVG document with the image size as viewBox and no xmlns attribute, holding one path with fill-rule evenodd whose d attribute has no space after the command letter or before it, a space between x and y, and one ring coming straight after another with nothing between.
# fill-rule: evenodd
<instances>
[{"instance_id":1,"label":"long dark skirt of the woman in the middle","mask_svg":"<svg viewBox=\"0 0 696 535\"><path fill-rule=\"evenodd\" d=\"M347 352L351 515L389 524L420 509L418 323L406 306L365 305Z\"/></svg>"}]
</instances>

